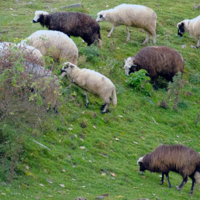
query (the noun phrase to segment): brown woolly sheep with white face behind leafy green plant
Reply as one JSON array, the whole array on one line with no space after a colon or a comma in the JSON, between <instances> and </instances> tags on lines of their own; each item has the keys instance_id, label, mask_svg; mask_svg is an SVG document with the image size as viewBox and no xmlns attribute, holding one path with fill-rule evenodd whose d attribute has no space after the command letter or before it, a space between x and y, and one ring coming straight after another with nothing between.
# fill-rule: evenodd
<instances>
[{"instance_id":1,"label":"brown woolly sheep with white face behind leafy green plant","mask_svg":"<svg viewBox=\"0 0 200 200\"><path fill-rule=\"evenodd\" d=\"M131 72L145 69L149 77L154 81L154 89L157 90L158 76L172 81L177 72L183 73L184 60L181 54L166 46L148 46L141 49L134 57L128 57L125 61L125 75Z\"/></svg>"}]
</instances>

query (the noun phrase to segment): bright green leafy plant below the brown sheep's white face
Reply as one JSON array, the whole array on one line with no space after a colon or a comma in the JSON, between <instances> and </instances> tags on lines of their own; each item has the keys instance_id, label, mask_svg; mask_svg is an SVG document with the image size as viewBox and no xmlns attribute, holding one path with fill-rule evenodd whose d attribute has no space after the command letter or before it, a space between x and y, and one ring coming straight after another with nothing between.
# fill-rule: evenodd
<instances>
[{"instance_id":1,"label":"bright green leafy plant below the brown sheep's white face","mask_svg":"<svg viewBox=\"0 0 200 200\"><path fill-rule=\"evenodd\" d=\"M131 73L127 83L131 85L131 87L134 87L136 90L141 91L146 96L151 96L151 89L152 86L149 83L150 78L146 76L147 71L144 69L141 69L137 72Z\"/></svg>"}]
</instances>

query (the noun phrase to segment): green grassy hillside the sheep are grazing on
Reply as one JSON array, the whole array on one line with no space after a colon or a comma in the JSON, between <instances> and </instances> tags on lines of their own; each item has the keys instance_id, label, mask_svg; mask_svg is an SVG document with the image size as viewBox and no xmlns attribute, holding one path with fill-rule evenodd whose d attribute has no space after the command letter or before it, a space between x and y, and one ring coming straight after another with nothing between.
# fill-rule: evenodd
<instances>
[{"instance_id":1,"label":"green grassy hillside the sheep are grazing on","mask_svg":"<svg viewBox=\"0 0 200 200\"><path fill-rule=\"evenodd\" d=\"M61 6L72 3L72 0L1 0L0 40L19 42L33 32L45 29L32 23L36 10L61 11ZM99 11L124 2L85 0L81 3L83 8L64 10L84 12L96 18ZM181 191L177 191L175 186L181 183L182 177L170 172L172 188L169 189L166 182L159 185L160 174L146 171L141 176L136 164L139 157L161 144L184 144L200 152L200 123L194 123L200 113L200 49L191 48L190 45L196 46L197 41L187 34L180 38L176 28L183 19L199 15L200 11L193 9L199 2L127 0L126 3L152 8L158 17L157 45L178 50L185 60L185 86L180 92L178 110L172 108L173 98L168 109L159 107L159 102L168 96L166 89L151 89L151 97L148 97L126 83L124 59L143 48L141 43L146 37L143 30L130 28L131 40L125 43L125 26L117 27L111 38L107 38L112 25L102 22L103 46L99 51L95 47L87 48L81 38L72 37L79 48L79 66L94 69L115 84L117 107L111 104L110 112L100 114L101 100L88 94L90 104L86 109L83 91L75 85L67 90L69 81L64 80L59 114L47 113L47 118L37 129L18 127L23 149L13 182L9 184L6 176L0 177L0 199L72 200L84 196L92 200L102 193L108 193L109 197L105 199L109 200L200 198L198 186L194 194L188 196L190 179ZM183 44L186 45L184 49ZM148 45L153 45L152 39ZM50 63L52 61L47 58L46 67ZM61 64L55 64L57 75L60 67ZM5 126L3 122L0 124ZM9 129L7 134L11 134ZM5 141L0 138L0 142L4 146Z\"/></svg>"}]
</instances>

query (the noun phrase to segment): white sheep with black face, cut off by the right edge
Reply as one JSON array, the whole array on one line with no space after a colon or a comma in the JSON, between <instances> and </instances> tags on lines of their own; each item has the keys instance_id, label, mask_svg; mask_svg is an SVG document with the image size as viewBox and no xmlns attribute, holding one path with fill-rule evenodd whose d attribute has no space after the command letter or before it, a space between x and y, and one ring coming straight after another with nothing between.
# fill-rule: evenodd
<instances>
[{"instance_id":1,"label":"white sheep with black face, cut off by the right edge","mask_svg":"<svg viewBox=\"0 0 200 200\"><path fill-rule=\"evenodd\" d=\"M182 37L185 32L188 32L192 38L198 40L196 48L200 46L200 15L194 19L185 19L179 22L177 28L178 35Z\"/></svg>"}]
</instances>

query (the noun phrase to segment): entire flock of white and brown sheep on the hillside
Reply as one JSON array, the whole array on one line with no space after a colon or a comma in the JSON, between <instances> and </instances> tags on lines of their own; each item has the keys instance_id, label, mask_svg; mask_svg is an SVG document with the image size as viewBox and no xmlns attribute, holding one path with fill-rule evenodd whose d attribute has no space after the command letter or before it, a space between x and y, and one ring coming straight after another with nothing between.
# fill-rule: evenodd
<instances>
[{"instance_id":1,"label":"entire flock of white and brown sheep on the hillside","mask_svg":"<svg viewBox=\"0 0 200 200\"><path fill-rule=\"evenodd\" d=\"M17 45L11 44L9 41L2 41L0 43L0 58L2 59L3 55L5 55L3 51L9 51L11 47L17 48L25 54L33 54L36 57L38 61L36 63L36 71L31 68L31 63L26 63L30 67L29 69L32 70L30 73L43 74L46 71L45 67L48 67L45 65L43 56L51 56L55 61L61 62L60 79L66 77L70 81L68 89L71 88L73 83L74 87L77 86L83 89L86 97L86 107L89 106L87 92L100 97L103 101L101 113L104 114L109 111L111 102L114 107L117 106L116 87L112 80L103 74L88 68L81 69L78 67L79 50L73 38L70 37L81 37L88 46L97 45L99 49L102 48L103 50L104 43L100 34L100 25L103 22L105 24L108 22L113 26L107 35L110 40L114 37L111 37L111 35L117 26L126 26L127 42L130 40L129 29L142 29L146 32L146 38L142 39L142 45L147 44L150 41L150 37L152 37L153 46L142 47L136 55L128 58L124 55L125 75L129 76L135 71L145 69L154 82L154 89L157 90L159 76L164 77L167 81L173 81L173 77L177 72L184 73L185 64L184 57L176 49L167 46L156 46L157 19L158 17L154 10L144 5L135 4L121 4L109 10L99 11L96 19L88 14L79 12L62 11L49 14L46 11L38 10L35 11L32 22L39 23L34 24L38 29L42 26L48 30L38 30ZM200 15L194 19L185 19L176 23L178 35L182 37L184 33L188 32L192 38L197 40L196 48L198 48L200 46ZM124 46L124 48L126 47ZM25 68L25 70L27 69ZM51 77L52 73L49 71L45 78ZM56 76L54 78L57 79ZM42 84L40 87L42 87ZM51 89L46 89L46 93L52 94L53 100L51 102L57 112L60 84L55 83L54 80L51 86ZM117 112L117 108L112 108L111 111ZM149 170L150 172L161 173L161 184L164 182L165 175L169 187L171 187L169 172L179 173L183 177L183 181L177 187L177 190L184 186L188 176L192 180L191 194L194 191L195 184L200 184L200 157L193 149L183 145L159 146L153 152L139 158L137 164L140 166L140 172Z\"/></svg>"}]
</instances>

